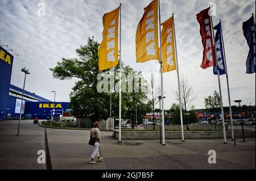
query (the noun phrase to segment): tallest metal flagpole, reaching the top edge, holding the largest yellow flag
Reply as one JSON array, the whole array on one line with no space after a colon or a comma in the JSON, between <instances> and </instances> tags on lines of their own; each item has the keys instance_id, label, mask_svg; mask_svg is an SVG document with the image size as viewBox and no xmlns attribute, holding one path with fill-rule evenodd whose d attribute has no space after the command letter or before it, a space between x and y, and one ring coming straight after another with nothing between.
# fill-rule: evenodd
<instances>
[{"instance_id":1,"label":"tallest metal flagpole, reaching the top edge, holding the largest yellow flag","mask_svg":"<svg viewBox=\"0 0 256 181\"><path fill-rule=\"evenodd\" d=\"M162 38L161 38L161 16L160 16L160 0L158 0L158 12L159 12L159 32L160 32L160 66L161 66L161 94L162 94L162 136L163 145L166 145L164 137L164 102L163 102L163 62L162 62Z\"/></svg>"}]
</instances>

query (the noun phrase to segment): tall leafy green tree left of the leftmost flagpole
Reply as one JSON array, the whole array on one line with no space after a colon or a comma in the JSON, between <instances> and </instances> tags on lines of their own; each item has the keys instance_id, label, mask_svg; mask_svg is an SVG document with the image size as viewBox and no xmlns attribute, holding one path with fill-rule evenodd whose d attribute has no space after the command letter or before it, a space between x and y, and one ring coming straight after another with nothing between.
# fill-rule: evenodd
<instances>
[{"instance_id":1,"label":"tall leafy green tree left of the leftmost flagpole","mask_svg":"<svg viewBox=\"0 0 256 181\"><path fill-rule=\"evenodd\" d=\"M90 116L94 120L108 116L104 105L108 94L97 91L98 42L89 37L87 44L76 49L78 58L62 58L55 68L50 68L53 77L64 80L78 78L70 94L73 113L79 117Z\"/></svg>"}]
</instances>

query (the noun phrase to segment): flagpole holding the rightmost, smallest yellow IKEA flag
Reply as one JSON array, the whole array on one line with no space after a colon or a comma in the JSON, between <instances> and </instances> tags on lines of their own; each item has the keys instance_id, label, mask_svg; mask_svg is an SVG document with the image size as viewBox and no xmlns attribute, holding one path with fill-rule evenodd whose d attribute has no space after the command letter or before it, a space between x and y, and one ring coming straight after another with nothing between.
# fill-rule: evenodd
<instances>
[{"instance_id":1,"label":"flagpole holding the rightmost, smallest yellow IKEA flag","mask_svg":"<svg viewBox=\"0 0 256 181\"><path fill-rule=\"evenodd\" d=\"M174 14L172 14L172 19L174 23ZM175 23L174 23L175 24ZM177 61L177 48L176 48L176 32L174 25L174 41L175 41L175 57L176 57L176 66L177 66L177 81L178 81L178 89L179 89L179 102L180 102L180 123L181 123L181 138L184 141L184 131L183 131L183 116L182 116L182 106L181 106L181 96L180 96L180 75L179 75L179 64Z\"/></svg>"}]
</instances>

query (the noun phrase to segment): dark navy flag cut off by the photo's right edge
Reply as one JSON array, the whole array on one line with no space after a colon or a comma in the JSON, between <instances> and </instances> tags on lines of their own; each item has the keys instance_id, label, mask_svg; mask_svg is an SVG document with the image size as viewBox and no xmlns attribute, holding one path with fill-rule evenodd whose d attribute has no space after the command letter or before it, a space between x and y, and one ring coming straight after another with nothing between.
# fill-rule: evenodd
<instances>
[{"instance_id":1,"label":"dark navy flag cut off by the photo's right edge","mask_svg":"<svg viewBox=\"0 0 256 181\"><path fill-rule=\"evenodd\" d=\"M246 22L243 22L243 35L249 46L249 53L246 60L246 73L255 73L255 26L254 17L251 16Z\"/></svg>"}]
</instances>

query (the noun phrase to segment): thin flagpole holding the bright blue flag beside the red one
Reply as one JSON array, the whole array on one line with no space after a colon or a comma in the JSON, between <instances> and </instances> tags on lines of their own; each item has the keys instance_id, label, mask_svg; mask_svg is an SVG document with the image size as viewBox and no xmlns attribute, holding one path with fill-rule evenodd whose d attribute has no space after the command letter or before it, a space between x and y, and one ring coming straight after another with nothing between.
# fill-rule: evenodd
<instances>
[{"instance_id":1,"label":"thin flagpole holding the bright blue flag beside the red one","mask_svg":"<svg viewBox=\"0 0 256 181\"><path fill-rule=\"evenodd\" d=\"M230 91L229 91L229 76L228 76L228 68L226 66L226 54L225 54L224 40L223 40L223 34L222 34L221 20L220 20L220 29L221 29L221 41L222 41L221 43L222 43L223 52L224 52L224 62L225 62L225 71L226 71L226 85L228 87L228 96L229 96L229 112L230 112L231 134L232 134L232 140L234 140L233 116L232 116L232 107L231 107L231 99L230 99Z\"/></svg>"}]
</instances>

